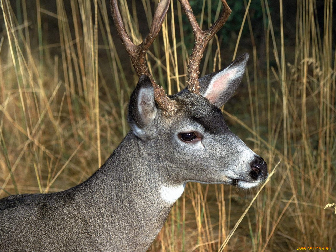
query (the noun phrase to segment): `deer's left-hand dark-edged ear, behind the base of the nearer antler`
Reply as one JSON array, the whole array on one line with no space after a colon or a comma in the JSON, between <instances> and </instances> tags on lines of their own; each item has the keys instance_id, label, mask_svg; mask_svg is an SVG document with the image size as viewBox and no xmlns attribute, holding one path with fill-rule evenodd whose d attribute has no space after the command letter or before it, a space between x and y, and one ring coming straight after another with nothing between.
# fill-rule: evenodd
<instances>
[{"instance_id":1,"label":"deer's left-hand dark-edged ear, behind the base of the nearer antler","mask_svg":"<svg viewBox=\"0 0 336 252\"><path fill-rule=\"evenodd\" d=\"M147 75L141 75L128 105L128 122L138 137L150 126L156 116L154 88Z\"/></svg>"}]
</instances>

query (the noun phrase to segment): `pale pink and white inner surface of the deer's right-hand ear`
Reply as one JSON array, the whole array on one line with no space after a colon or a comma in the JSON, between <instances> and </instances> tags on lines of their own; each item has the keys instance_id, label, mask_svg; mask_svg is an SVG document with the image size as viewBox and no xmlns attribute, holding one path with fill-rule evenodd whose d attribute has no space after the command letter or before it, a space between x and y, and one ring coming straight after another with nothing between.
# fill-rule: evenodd
<instances>
[{"instance_id":1,"label":"pale pink and white inner surface of the deer's right-hand ear","mask_svg":"<svg viewBox=\"0 0 336 252\"><path fill-rule=\"evenodd\" d=\"M232 69L230 71L222 71L214 76L209 84L208 90L205 93L205 97L210 100L212 103L216 103L220 94L227 88L232 76L235 76L237 69Z\"/></svg>"}]
</instances>

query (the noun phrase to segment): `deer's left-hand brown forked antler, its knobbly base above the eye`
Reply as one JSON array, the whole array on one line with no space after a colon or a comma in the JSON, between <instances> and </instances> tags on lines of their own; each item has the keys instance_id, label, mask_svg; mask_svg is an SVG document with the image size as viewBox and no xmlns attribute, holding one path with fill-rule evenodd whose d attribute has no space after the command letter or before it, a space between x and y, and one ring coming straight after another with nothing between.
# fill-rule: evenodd
<instances>
[{"instance_id":1,"label":"deer's left-hand brown forked antler, its knobbly base above the eye","mask_svg":"<svg viewBox=\"0 0 336 252\"><path fill-rule=\"evenodd\" d=\"M150 77L152 81L152 86L154 87L155 101L159 108L163 110L163 114L166 116L172 116L177 110L176 102L171 100L166 95L164 89L156 84L153 76L149 73L148 67L146 66L146 53L149 47L153 44L154 39L158 36L158 33L162 27L162 23L166 16L167 10L169 8L170 0L161 0L158 3L158 7L155 11L153 22L148 35L139 45L135 45L129 38L123 19L120 14L117 0L111 0L111 12L118 31L118 35L128 52L132 64L134 66L135 72L140 77L145 74Z\"/></svg>"}]
</instances>

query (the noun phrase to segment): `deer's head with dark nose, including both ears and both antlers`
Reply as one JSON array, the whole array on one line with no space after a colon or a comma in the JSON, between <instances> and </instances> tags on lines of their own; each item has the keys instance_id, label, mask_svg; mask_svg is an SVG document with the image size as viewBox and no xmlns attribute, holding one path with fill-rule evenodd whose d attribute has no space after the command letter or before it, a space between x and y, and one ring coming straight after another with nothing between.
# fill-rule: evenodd
<instances>
[{"instance_id":1,"label":"deer's head with dark nose, including both ears and both antlers","mask_svg":"<svg viewBox=\"0 0 336 252\"><path fill-rule=\"evenodd\" d=\"M190 56L187 87L167 96L149 74L145 54L163 23L170 0L161 0L149 34L138 46L128 37L117 0L111 0L118 34L130 55L139 82L132 93L128 121L142 150L169 167L165 181L237 184L244 188L264 180L267 165L227 127L219 108L234 94L245 73L248 54L227 68L198 78L202 54L209 40L224 25L231 10L223 10L208 30L201 30L190 4L179 0L193 27L195 45ZM154 157L155 156L155 157Z\"/></svg>"}]
</instances>

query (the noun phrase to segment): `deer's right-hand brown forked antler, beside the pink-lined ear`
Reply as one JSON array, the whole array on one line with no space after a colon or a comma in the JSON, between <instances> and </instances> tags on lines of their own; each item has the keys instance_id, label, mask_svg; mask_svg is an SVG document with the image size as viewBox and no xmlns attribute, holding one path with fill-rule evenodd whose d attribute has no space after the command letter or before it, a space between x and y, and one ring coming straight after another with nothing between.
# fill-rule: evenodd
<instances>
[{"instance_id":1,"label":"deer's right-hand brown forked antler, beside the pink-lined ear","mask_svg":"<svg viewBox=\"0 0 336 252\"><path fill-rule=\"evenodd\" d=\"M189 2L187 0L179 0L179 1L182 5L182 8L184 9L185 14L188 17L189 23L193 27L195 37L193 52L189 58L189 64L188 64L188 73L187 73L188 89L191 93L200 94L198 75L200 73L199 68L201 59L203 57L203 52L209 40L212 39L212 37L218 32L218 30L222 28L223 25L225 24L227 18L231 13L231 9L227 5L225 0L221 0L223 4L223 10L221 11L220 16L208 30L203 31L201 30L201 28L197 23L197 20L194 16L193 10Z\"/></svg>"}]
</instances>

